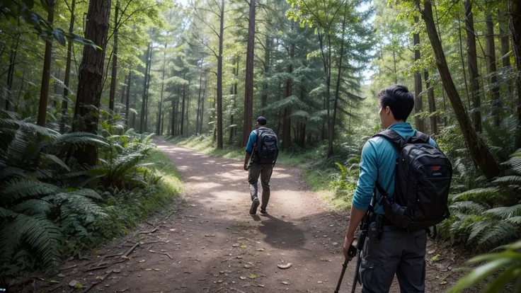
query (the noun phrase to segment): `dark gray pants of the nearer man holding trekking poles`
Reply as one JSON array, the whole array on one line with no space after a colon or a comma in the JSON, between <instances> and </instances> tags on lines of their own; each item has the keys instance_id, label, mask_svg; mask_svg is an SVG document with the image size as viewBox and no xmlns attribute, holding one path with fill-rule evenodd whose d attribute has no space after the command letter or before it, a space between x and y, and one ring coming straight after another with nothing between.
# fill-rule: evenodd
<instances>
[{"instance_id":1,"label":"dark gray pants of the nearer man holding trekking poles","mask_svg":"<svg viewBox=\"0 0 521 293\"><path fill-rule=\"evenodd\" d=\"M367 238L362 250L362 293L389 292L394 273L400 292L425 292L425 246L427 233L383 226L379 243Z\"/></svg>"}]
</instances>

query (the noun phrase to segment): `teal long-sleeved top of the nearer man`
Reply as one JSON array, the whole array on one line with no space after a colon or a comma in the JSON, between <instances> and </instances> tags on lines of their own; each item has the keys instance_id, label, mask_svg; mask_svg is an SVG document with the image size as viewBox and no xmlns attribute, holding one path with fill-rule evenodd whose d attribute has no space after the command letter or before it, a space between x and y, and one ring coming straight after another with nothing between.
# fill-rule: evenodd
<instances>
[{"instance_id":1,"label":"teal long-sleeved top of the nearer man","mask_svg":"<svg viewBox=\"0 0 521 293\"><path fill-rule=\"evenodd\" d=\"M402 137L411 137L416 132L410 123L396 123L391 125L389 130L398 132ZM436 146L433 139L429 142ZM374 190L374 183L378 179L378 183L387 191L389 197L394 195L394 168L396 159L400 156L399 152L394 149L391 142L383 137L373 137L364 144L362 149L362 158L360 161L360 175L353 196L353 206L357 209L367 210L370 205L371 197ZM377 192L377 202L382 195ZM384 209L378 205L374 206L374 212L384 214Z\"/></svg>"}]
</instances>

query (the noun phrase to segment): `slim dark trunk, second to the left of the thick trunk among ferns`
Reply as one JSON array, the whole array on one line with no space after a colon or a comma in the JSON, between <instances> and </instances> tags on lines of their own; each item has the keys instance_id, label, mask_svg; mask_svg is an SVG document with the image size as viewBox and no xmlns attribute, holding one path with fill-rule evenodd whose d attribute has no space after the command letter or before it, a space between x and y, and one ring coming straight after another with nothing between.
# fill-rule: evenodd
<instances>
[{"instance_id":1,"label":"slim dark trunk, second to the left of the thick trunk among ferns","mask_svg":"<svg viewBox=\"0 0 521 293\"><path fill-rule=\"evenodd\" d=\"M55 18L55 0L47 0L49 13L47 21L52 25ZM45 126L47 118L47 101L49 100L49 81L51 78L51 54L52 42L45 42L45 56L43 57L42 87L40 88L40 105L38 107L38 122L40 126Z\"/></svg>"}]
</instances>

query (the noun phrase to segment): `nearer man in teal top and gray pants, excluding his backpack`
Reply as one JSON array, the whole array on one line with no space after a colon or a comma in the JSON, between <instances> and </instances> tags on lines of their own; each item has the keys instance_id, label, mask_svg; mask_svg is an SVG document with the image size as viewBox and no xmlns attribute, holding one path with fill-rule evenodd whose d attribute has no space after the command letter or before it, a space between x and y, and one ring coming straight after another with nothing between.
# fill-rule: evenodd
<instances>
[{"instance_id":1,"label":"nearer man in teal top and gray pants, excluding his backpack","mask_svg":"<svg viewBox=\"0 0 521 293\"><path fill-rule=\"evenodd\" d=\"M414 107L413 93L406 86L390 86L378 94L379 117L382 126L392 129L403 138L411 137L416 130L406 120ZM430 139L430 144L436 146ZM348 231L345 234L343 251L353 243L357 226L370 205L375 182L378 180L388 193L394 194L394 168L399 152L383 137L369 139L362 149L360 175L353 197ZM382 195L377 193L377 202ZM384 214L378 203L376 214ZM425 292L425 230L404 231L383 217L382 236L378 243L367 238L362 249L360 281L362 292L389 292L394 274L399 280L401 292Z\"/></svg>"}]
</instances>

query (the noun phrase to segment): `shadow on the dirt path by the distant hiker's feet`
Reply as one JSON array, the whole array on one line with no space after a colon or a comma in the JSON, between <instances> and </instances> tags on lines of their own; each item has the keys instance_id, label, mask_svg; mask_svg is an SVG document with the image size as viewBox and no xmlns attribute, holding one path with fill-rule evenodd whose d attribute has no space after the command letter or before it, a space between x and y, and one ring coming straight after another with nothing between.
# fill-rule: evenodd
<instances>
[{"instance_id":1,"label":"shadow on the dirt path by the distant hiker's feet","mask_svg":"<svg viewBox=\"0 0 521 293\"><path fill-rule=\"evenodd\" d=\"M265 235L264 242L275 248L302 248L306 243L304 231L297 228L293 222L277 219L272 215L263 216L258 231ZM267 219L267 220L266 220Z\"/></svg>"}]
</instances>

